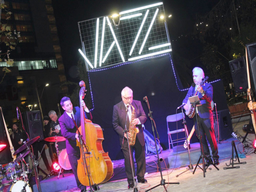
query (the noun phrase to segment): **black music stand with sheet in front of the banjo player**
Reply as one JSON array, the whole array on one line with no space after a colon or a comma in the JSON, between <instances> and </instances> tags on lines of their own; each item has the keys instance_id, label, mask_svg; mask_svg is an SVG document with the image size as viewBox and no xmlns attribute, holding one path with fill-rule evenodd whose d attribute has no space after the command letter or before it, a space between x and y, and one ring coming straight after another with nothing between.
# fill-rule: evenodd
<instances>
[{"instance_id":1,"label":"black music stand with sheet in front of the banjo player","mask_svg":"<svg viewBox=\"0 0 256 192\"><path fill-rule=\"evenodd\" d=\"M204 155L204 150L203 150L203 145L202 145L202 136L201 136L200 131L199 131L198 118L197 118L197 108L196 108L197 106L201 105L200 99L199 99L198 96L193 96L193 97L189 97L189 101L190 101L190 104L192 104L192 106L195 108L195 119L196 119L196 125L197 125L197 130L198 130L198 139L199 139L200 149L201 149L201 155L199 157L198 163L195 166L193 174L195 174L195 170L196 170L197 167L202 169L201 166L198 165L200 160L202 159L202 163L203 163L203 169L202 170L204 172L204 177L205 177L205 172L206 172L206 169L209 167L209 165L207 166L207 168L205 168L204 159L207 159L209 161L209 163L212 164L217 170L219 170L219 169L218 169L218 167L216 167L214 165L214 163L212 161L210 161L208 159L208 157L206 157Z\"/></svg>"}]
</instances>

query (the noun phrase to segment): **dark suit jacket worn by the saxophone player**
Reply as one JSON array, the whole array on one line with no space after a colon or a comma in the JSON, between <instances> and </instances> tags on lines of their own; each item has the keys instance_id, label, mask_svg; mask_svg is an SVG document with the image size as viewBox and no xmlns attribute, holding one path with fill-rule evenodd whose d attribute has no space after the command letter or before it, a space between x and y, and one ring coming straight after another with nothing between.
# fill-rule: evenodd
<instances>
[{"instance_id":1,"label":"dark suit jacket worn by the saxophone player","mask_svg":"<svg viewBox=\"0 0 256 192\"><path fill-rule=\"evenodd\" d=\"M131 105L134 107L134 111L136 112L134 115L134 118L138 118L141 124L145 123L145 121L147 120L147 116L145 115L141 102L133 100ZM125 120L126 120L126 108L125 108L124 102L121 101L118 104L116 104L113 108L113 127L119 135L119 142L121 146L122 146L122 138L124 135L123 131L125 129ZM126 125L127 129L129 128L128 127L129 125L130 123ZM138 137L140 144L144 146L145 139L143 134L143 128L141 125L138 125L137 127L139 128L140 132L137 133L136 137Z\"/></svg>"}]
</instances>

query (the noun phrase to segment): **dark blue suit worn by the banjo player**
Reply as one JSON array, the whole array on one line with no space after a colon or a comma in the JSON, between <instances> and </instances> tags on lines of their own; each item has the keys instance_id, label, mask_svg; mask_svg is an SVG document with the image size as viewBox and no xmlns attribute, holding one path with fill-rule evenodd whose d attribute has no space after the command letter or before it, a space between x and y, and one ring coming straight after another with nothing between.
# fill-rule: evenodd
<instances>
[{"instance_id":1,"label":"dark blue suit worn by the banjo player","mask_svg":"<svg viewBox=\"0 0 256 192\"><path fill-rule=\"evenodd\" d=\"M186 95L186 98L183 100L183 103L187 103L187 100L189 97L193 96L195 93L195 84L189 88L189 91ZM195 124L195 131L196 134L198 135L198 128L197 128L197 123L196 123L196 115L198 117L198 126L199 126L199 131L202 136L202 145L203 145L203 151L204 155L206 157L211 158L210 156L210 151L209 147L207 144L206 137L210 143L211 149L212 149L212 159L213 160L218 160L218 146L214 134L214 125L213 125L213 114L212 114L212 107L211 107L211 102L212 102L212 95L213 95L213 90L212 90L212 85L205 83L204 85L201 86L203 90L205 91L204 96L202 96L201 93L197 93L201 106L198 106L198 115L195 114L193 120Z\"/></svg>"}]
</instances>

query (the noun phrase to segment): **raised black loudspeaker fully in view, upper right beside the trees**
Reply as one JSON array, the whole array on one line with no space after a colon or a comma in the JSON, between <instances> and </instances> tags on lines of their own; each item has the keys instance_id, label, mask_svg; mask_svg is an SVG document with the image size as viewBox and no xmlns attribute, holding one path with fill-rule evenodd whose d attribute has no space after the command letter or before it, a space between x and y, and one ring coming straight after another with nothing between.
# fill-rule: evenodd
<instances>
[{"instance_id":1,"label":"raised black loudspeaker fully in view, upper right beside the trees","mask_svg":"<svg viewBox=\"0 0 256 192\"><path fill-rule=\"evenodd\" d=\"M246 92L248 80L245 57L229 61L229 65L236 93Z\"/></svg>"}]
</instances>

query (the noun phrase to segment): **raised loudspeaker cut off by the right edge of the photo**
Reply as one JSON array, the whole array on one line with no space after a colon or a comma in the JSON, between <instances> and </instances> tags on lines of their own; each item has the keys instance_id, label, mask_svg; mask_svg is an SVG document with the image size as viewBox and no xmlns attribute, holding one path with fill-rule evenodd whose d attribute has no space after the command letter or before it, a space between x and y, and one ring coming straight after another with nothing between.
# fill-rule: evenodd
<instances>
[{"instance_id":1,"label":"raised loudspeaker cut off by the right edge of the photo","mask_svg":"<svg viewBox=\"0 0 256 192\"><path fill-rule=\"evenodd\" d=\"M252 88L256 91L256 42L247 44L247 54L248 54L248 65L250 68L251 78L253 82Z\"/></svg>"}]
</instances>

